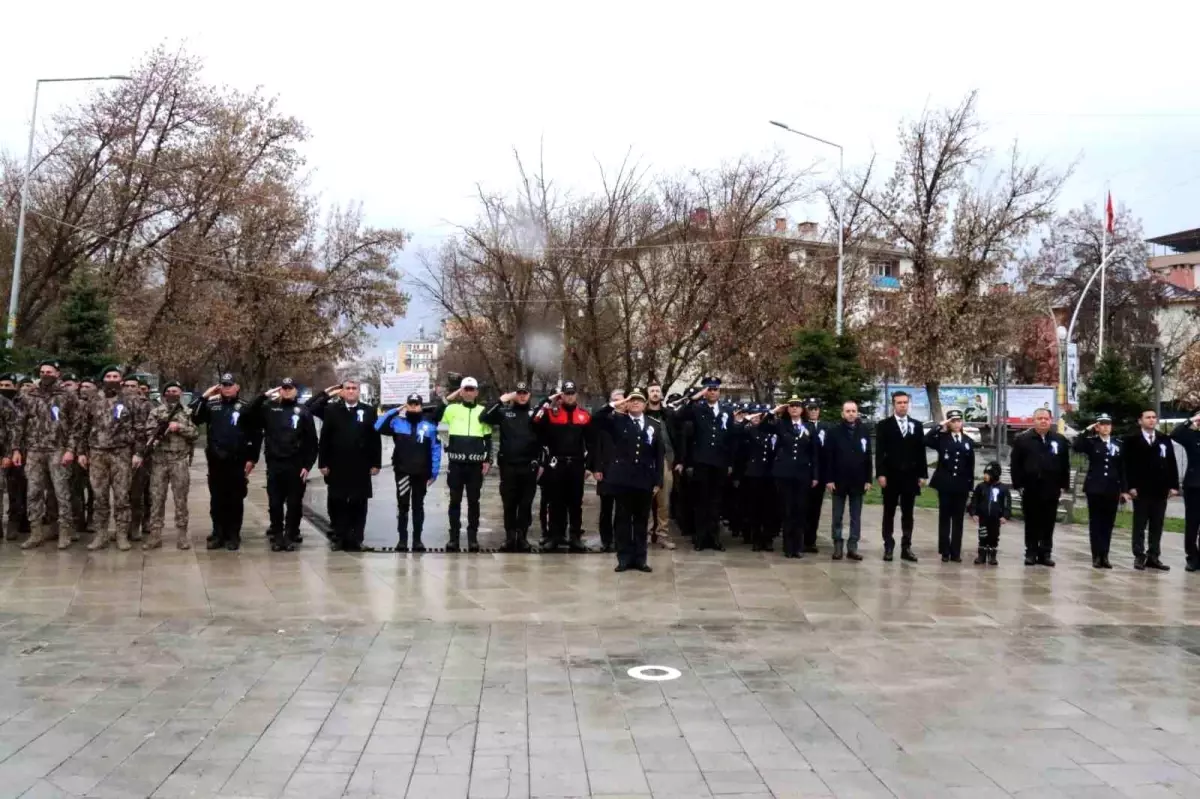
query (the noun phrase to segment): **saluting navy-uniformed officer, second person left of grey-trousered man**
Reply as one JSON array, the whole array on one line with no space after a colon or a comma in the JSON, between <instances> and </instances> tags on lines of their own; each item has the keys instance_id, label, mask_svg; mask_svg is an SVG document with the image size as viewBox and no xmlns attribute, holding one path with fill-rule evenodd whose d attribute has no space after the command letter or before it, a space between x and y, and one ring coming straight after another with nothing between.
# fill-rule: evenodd
<instances>
[{"instance_id":1,"label":"saluting navy-uniformed officer, second person left of grey-trousered man","mask_svg":"<svg viewBox=\"0 0 1200 799\"><path fill-rule=\"evenodd\" d=\"M804 419L804 401L799 397L792 397L786 405L776 407L763 419L762 426L776 437L770 473L775 479L775 493L779 495L784 522L784 557L800 558L808 518L804 507L821 471L817 465L821 450L816 429Z\"/></svg>"}]
</instances>

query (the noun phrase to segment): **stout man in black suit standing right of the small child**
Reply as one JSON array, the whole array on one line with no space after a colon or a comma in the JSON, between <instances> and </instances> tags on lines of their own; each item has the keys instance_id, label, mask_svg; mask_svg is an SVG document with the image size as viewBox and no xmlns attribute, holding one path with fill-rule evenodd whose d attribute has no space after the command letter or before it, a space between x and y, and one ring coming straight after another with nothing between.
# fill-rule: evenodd
<instances>
[{"instance_id":1,"label":"stout man in black suit standing right of the small child","mask_svg":"<svg viewBox=\"0 0 1200 799\"><path fill-rule=\"evenodd\" d=\"M1054 566L1054 525L1058 521L1058 498L1070 488L1070 447L1067 439L1050 429L1050 411L1033 411L1033 429L1013 439L1008 469L1013 488L1021 492L1025 513L1025 565Z\"/></svg>"}]
</instances>

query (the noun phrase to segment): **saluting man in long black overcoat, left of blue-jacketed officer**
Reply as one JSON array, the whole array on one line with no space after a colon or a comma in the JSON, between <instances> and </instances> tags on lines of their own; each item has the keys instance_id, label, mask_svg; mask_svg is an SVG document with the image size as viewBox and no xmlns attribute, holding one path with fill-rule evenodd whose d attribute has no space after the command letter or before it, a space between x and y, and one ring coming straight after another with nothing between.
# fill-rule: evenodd
<instances>
[{"instance_id":1,"label":"saluting man in long black overcoat, left of blue-jacketed officer","mask_svg":"<svg viewBox=\"0 0 1200 799\"><path fill-rule=\"evenodd\" d=\"M382 446L376 432L376 409L359 402L358 380L344 380L308 402L313 416L323 420L317 468L329 492L332 549L359 552L367 524L371 479L379 474Z\"/></svg>"}]
</instances>

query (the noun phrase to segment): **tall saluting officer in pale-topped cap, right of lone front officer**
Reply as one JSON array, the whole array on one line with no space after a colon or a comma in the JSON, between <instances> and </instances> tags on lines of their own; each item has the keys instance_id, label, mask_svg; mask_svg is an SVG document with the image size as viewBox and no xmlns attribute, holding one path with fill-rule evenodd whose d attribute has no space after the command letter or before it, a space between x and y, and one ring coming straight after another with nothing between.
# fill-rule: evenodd
<instances>
[{"instance_id":1,"label":"tall saluting officer in pale-topped cap, right of lone front officer","mask_svg":"<svg viewBox=\"0 0 1200 799\"><path fill-rule=\"evenodd\" d=\"M733 473L733 408L721 402L721 380L706 377L691 402L679 410L679 420L691 422L688 447L688 494L695 517L692 548L725 551L719 518L725 480Z\"/></svg>"}]
</instances>

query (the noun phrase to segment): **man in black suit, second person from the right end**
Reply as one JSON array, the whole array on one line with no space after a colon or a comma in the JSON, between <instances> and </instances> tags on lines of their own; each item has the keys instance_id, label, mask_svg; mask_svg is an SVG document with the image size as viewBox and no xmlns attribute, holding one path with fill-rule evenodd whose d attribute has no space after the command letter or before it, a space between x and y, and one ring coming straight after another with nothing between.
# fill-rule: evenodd
<instances>
[{"instance_id":1,"label":"man in black suit, second person from the right end","mask_svg":"<svg viewBox=\"0 0 1200 799\"><path fill-rule=\"evenodd\" d=\"M1160 435L1158 414L1141 411L1136 433L1126 437L1126 475L1133 498L1133 567L1138 571L1170 571L1159 560L1166 499L1180 493L1180 467L1175 462L1175 443ZM1146 547L1146 527L1150 547Z\"/></svg>"}]
</instances>

